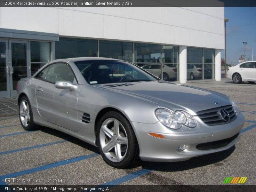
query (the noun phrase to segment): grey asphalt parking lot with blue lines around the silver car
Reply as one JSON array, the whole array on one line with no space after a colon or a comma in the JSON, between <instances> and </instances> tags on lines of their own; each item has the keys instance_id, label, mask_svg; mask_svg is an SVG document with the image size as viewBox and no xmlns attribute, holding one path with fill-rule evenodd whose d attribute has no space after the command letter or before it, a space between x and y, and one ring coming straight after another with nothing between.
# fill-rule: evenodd
<instances>
[{"instance_id":1,"label":"grey asphalt parking lot with blue lines around the silver car","mask_svg":"<svg viewBox=\"0 0 256 192\"><path fill-rule=\"evenodd\" d=\"M234 147L184 162L141 162L122 170L107 165L90 144L46 127L28 132L18 116L5 116L0 117L0 185L227 185L226 177L247 177L243 185L255 185L256 83L224 79L188 85L235 100L246 122ZM27 179L30 183L22 182Z\"/></svg>"}]
</instances>

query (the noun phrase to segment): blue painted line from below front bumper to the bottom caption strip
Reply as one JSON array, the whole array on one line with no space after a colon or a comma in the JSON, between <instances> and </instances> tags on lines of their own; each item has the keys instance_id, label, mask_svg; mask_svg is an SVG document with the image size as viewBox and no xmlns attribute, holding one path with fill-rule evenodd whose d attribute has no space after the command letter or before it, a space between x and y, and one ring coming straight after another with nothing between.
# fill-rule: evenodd
<instances>
[{"instance_id":1,"label":"blue painted line from below front bumper to the bottom caption strip","mask_svg":"<svg viewBox=\"0 0 256 192\"><path fill-rule=\"evenodd\" d=\"M135 171L135 172L132 172L128 175L124 175L123 177L120 177L118 179L115 179L115 180L112 180L112 181L109 181L107 183L103 183L101 185L120 185L121 183L124 183L126 181L129 181L129 180L132 180L132 179L135 179L137 177L140 177L141 175L145 175L147 173L150 173L152 172L153 170L148 170L148 169L141 169L139 171ZM100 185L100 186L101 186Z\"/></svg>"}]
</instances>

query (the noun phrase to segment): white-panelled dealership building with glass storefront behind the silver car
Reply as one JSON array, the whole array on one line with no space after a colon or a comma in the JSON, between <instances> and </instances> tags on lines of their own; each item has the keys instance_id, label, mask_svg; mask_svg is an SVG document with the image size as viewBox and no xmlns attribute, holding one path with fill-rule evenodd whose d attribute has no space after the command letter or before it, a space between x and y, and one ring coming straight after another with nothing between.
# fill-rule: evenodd
<instances>
[{"instance_id":1,"label":"white-panelled dealership building with glass storefront behind the silver car","mask_svg":"<svg viewBox=\"0 0 256 192\"><path fill-rule=\"evenodd\" d=\"M166 81L220 81L223 7L0 7L0 97L45 63L132 62Z\"/></svg>"}]
</instances>

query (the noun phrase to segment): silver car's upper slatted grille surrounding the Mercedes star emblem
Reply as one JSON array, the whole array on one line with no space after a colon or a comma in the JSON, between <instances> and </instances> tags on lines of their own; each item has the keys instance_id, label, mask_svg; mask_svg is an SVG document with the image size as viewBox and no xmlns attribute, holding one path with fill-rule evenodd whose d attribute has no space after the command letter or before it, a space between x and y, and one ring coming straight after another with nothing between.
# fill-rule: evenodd
<instances>
[{"instance_id":1,"label":"silver car's upper slatted grille surrounding the Mercedes star emblem","mask_svg":"<svg viewBox=\"0 0 256 192\"><path fill-rule=\"evenodd\" d=\"M225 109L228 112L230 120L227 122L220 116L220 110ZM236 112L232 105L207 109L196 113L197 116L207 125L220 125L230 123L236 119Z\"/></svg>"}]
</instances>

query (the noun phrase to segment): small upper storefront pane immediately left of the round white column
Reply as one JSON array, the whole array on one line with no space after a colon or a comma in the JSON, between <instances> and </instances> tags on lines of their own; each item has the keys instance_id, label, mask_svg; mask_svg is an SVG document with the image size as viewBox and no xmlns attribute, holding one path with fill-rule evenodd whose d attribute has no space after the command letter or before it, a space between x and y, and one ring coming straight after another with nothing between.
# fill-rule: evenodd
<instances>
[{"instance_id":1,"label":"small upper storefront pane immediately left of the round white column","mask_svg":"<svg viewBox=\"0 0 256 192\"><path fill-rule=\"evenodd\" d=\"M178 63L179 47L163 45L163 63Z\"/></svg>"}]
</instances>

